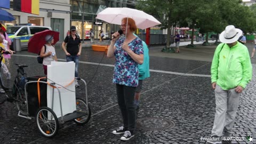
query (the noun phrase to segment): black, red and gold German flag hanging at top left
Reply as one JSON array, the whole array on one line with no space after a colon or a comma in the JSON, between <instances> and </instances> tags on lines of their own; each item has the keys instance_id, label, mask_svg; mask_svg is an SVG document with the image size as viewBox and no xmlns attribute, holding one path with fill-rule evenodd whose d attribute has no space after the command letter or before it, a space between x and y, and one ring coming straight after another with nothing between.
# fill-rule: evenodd
<instances>
[{"instance_id":1,"label":"black, red and gold German flag hanging at top left","mask_svg":"<svg viewBox=\"0 0 256 144\"><path fill-rule=\"evenodd\" d=\"M39 15L39 0L13 0L13 10Z\"/></svg>"}]
</instances>

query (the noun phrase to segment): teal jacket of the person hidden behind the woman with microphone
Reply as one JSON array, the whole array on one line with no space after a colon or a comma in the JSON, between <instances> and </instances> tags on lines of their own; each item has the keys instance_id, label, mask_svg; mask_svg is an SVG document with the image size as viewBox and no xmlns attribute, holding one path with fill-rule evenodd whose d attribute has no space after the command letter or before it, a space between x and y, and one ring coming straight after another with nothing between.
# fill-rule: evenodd
<instances>
[{"instance_id":1,"label":"teal jacket of the person hidden behind the woman with microphone","mask_svg":"<svg viewBox=\"0 0 256 144\"><path fill-rule=\"evenodd\" d=\"M144 60L141 65L138 65L139 68L139 79L143 80L150 76L149 74L149 55L148 55L148 46L142 41L143 51L144 51Z\"/></svg>"}]
</instances>

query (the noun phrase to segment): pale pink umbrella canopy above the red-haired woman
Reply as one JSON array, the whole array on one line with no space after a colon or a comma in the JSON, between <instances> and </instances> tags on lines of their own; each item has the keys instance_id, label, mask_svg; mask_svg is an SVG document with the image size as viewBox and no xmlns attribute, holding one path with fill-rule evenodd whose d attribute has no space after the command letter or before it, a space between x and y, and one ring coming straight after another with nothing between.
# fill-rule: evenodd
<instances>
[{"instance_id":1,"label":"pale pink umbrella canopy above the red-haired woman","mask_svg":"<svg viewBox=\"0 0 256 144\"><path fill-rule=\"evenodd\" d=\"M96 19L121 25L122 19L126 17L132 18L135 21L136 26L140 29L146 29L161 24L161 22L155 19L152 15L127 7L108 7L98 13Z\"/></svg>"}]
</instances>

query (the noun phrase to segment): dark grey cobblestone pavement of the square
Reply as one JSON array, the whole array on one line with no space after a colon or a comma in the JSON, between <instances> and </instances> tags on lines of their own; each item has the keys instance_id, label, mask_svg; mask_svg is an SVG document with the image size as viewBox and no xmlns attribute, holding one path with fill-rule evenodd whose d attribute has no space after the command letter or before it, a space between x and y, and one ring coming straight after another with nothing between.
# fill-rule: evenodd
<instances>
[{"instance_id":1,"label":"dark grey cobblestone pavement of the square","mask_svg":"<svg viewBox=\"0 0 256 144\"><path fill-rule=\"evenodd\" d=\"M36 62L35 55L21 51L12 56L9 68L12 80L16 71L14 63L29 65L26 68L28 76L43 75L42 65ZM59 48L57 55L60 60L65 59ZM206 143L203 138L210 136L215 114L214 91L209 77L211 62L150 57L151 77L143 82L137 116L141 120L138 125L147 129L138 128L134 138L123 142L120 135L111 133L122 125L115 85L111 83L114 59L87 48L82 55L79 77L89 82L87 89L92 111L89 123L84 126L73 122L60 124L58 134L47 139L37 130L35 119L18 117L13 104L5 102L0 105L0 143ZM99 62L107 65L98 66ZM255 70L253 64L253 79L240 99L234 125L233 136L244 140L233 143L256 143ZM6 84L10 86L11 82ZM84 97L81 89L82 86L77 89L77 97ZM165 129L168 122L174 127ZM249 135L252 142L245 139Z\"/></svg>"}]
</instances>

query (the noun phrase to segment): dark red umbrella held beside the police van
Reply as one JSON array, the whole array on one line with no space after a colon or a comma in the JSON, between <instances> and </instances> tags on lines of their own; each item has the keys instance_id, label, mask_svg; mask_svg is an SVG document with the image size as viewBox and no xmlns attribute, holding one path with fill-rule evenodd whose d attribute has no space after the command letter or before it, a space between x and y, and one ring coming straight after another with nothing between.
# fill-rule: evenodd
<instances>
[{"instance_id":1,"label":"dark red umbrella held beside the police van","mask_svg":"<svg viewBox=\"0 0 256 144\"><path fill-rule=\"evenodd\" d=\"M52 35L54 39L54 43L57 43L59 41L59 35L60 33L57 31L52 30L44 30L39 33L35 33L34 36L32 36L28 41L28 52L36 53L38 54L39 51L41 51L41 48L46 43L45 36Z\"/></svg>"}]
</instances>

